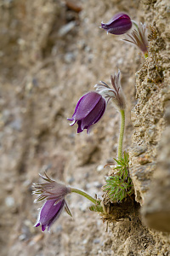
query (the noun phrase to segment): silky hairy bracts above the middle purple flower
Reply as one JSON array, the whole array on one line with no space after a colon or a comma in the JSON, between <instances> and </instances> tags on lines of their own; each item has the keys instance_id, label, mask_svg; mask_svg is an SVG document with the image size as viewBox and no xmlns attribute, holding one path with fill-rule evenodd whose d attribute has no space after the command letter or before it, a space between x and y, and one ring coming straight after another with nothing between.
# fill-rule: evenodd
<instances>
[{"instance_id":1,"label":"silky hairy bracts above the middle purple flower","mask_svg":"<svg viewBox=\"0 0 170 256\"><path fill-rule=\"evenodd\" d=\"M111 99L118 110L126 108L126 100L122 91L120 75L120 70L117 74L115 73L114 77L111 75L111 84L113 86L113 89L111 89L111 87L108 84L105 84L105 82L103 81L100 81L101 84L95 84L94 86L99 94L105 97L105 100L107 102L109 102L109 100Z\"/></svg>"}]
</instances>

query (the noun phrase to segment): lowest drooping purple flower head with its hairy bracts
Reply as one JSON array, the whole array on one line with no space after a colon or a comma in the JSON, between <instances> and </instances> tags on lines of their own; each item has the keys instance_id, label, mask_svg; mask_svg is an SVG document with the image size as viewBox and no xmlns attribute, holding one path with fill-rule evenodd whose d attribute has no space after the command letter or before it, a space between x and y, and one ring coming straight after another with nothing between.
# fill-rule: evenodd
<instances>
[{"instance_id":1,"label":"lowest drooping purple flower head with its hairy bracts","mask_svg":"<svg viewBox=\"0 0 170 256\"><path fill-rule=\"evenodd\" d=\"M42 175L40 176L42 177ZM71 189L64 184L57 183L49 178L46 172L45 177L42 178L46 183L33 184L36 189L33 194L38 195L35 202L46 200L40 210L37 224L35 224L36 227L42 225L42 231L44 231L47 227L49 230L64 209L71 215L69 207L65 201L65 195L71 193Z\"/></svg>"}]
</instances>

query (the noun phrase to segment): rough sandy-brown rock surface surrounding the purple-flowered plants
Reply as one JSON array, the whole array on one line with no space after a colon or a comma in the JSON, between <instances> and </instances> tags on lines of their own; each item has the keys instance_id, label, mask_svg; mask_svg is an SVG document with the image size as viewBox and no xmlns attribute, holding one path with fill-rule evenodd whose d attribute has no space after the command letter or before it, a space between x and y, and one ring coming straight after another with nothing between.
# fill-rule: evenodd
<instances>
[{"instance_id":1,"label":"rough sandy-brown rock surface surrounding the purple-flowered plants","mask_svg":"<svg viewBox=\"0 0 170 256\"><path fill-rule=\"evenodd\" d=\"M150 27L147 61L138 49L99 29L118 11ZM33 227L40 206L31 195L38 172L49 168L54 178L101 196L108 172L101 166L116 157L119 114L109 104L89 136L85 131L77 135L76 125L69 127L66 118L82 94L94 90L99 80L109 84L119 68L128 102L124 149L130 148L136 201L146 224L167 231L169 218L160 227L150 223L150 216L160 221L169 212L168 204L163 212L169 198L164 114L169 108L169 15L168 0L1 1L2 256L170 255L169 235L148 230L139 212L105 232L100 217L78 195L68 198L74 218L63 214L50 234L42 233Z\"/></svg>"}]
</instances>

